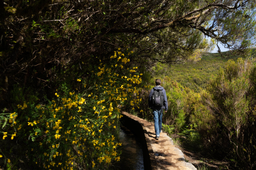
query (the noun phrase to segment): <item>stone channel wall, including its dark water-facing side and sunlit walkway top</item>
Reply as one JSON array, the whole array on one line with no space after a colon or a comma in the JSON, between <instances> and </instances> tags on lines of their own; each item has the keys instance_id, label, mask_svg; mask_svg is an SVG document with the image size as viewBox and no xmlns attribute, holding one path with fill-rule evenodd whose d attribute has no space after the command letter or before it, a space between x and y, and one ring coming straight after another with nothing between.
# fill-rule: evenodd
<instances>
[{"instance_id":1,"label":"stone channel wall, including its dark water-facing side and sunlit walkway top","mask_svg":"<svg viewBox=\"0 0 256 170\"><path fill-rule=\"evenodd\" d=\"M127 112L121 113L121 123L130 129L141 141L145 170L196 170L185 161L184 154L176 148L166 133L154 139L154 124Z\"/></svg>"}]
</instances>

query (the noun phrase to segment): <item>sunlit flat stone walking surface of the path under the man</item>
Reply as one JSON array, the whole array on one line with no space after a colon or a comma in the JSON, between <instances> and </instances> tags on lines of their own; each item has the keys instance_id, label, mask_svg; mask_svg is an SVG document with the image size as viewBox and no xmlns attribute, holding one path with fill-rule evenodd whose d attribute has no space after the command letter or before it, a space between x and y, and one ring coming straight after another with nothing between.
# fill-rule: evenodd
<instances>
[{"instance_id":1,"label":"sunlit flat stone walking surface of the path under the man","mask_svg":"<svg viewBox=\"0 0 256 170\"><path fill-rule=\"evenodd\" d=\"M153 123L127 112L122 112L122 114L138 121L143 126L148 150L149 152L152 151L150 152L152 154L150 155L152 169L196 170L191 163L185 161L184 154L174 146L172 138L170 138L166 133L161 132L159 140L154 138L156 135Z\"/></svg>"}]
</instances>

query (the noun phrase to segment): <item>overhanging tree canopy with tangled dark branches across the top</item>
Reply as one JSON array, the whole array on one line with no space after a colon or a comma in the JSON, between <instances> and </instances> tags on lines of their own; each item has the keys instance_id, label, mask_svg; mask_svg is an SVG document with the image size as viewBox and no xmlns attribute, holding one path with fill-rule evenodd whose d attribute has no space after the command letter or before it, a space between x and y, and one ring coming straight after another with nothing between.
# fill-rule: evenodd
<instances>
[{"instance_id":1,"label":"overhanging tree canopy with tangled dark branches across the top","mask_svg":"<svg viewBox=\"0 0 256 170\"><path fill-rule=\"evenodd\" d=\"M2 0L0 6L5 100L12 84L52 88L61 71L94 65L96 56L104 60L117 48L136 51L131 63L144 67L149 58L198 60L214 44L205 36L240 50L255 37L253 0Z\"/></svg>"}]
</instances>

